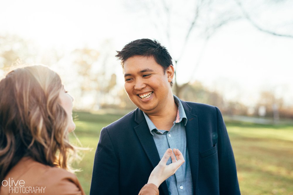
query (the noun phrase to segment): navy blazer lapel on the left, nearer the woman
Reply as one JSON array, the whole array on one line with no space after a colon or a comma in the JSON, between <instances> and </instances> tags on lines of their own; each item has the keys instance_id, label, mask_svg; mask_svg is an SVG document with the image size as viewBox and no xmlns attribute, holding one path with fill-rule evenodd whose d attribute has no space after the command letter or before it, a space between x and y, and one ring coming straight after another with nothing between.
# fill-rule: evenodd
<instances>
[{"instance_id":1,"label":"navy blazer lapel on the left, nearer the woman","mask_svg":"<svg viewBox=\"0 0 293 195\"><path fill-rule=\"evenodd\" d=\"M137 134L137 137L142 144L142 148L147 154L151 165L153 166L153 168L155 168L155 166L157 166L160 161L160 156L155 141L151 133L149 132L149 126L147 125L144 114L138 108L135 111L134 120L138 123L138 125L134 127L135 133ZM169 193L166 182L163 182L160 187L163 190L164 194Z\"/></svg>"}]
</instances>

